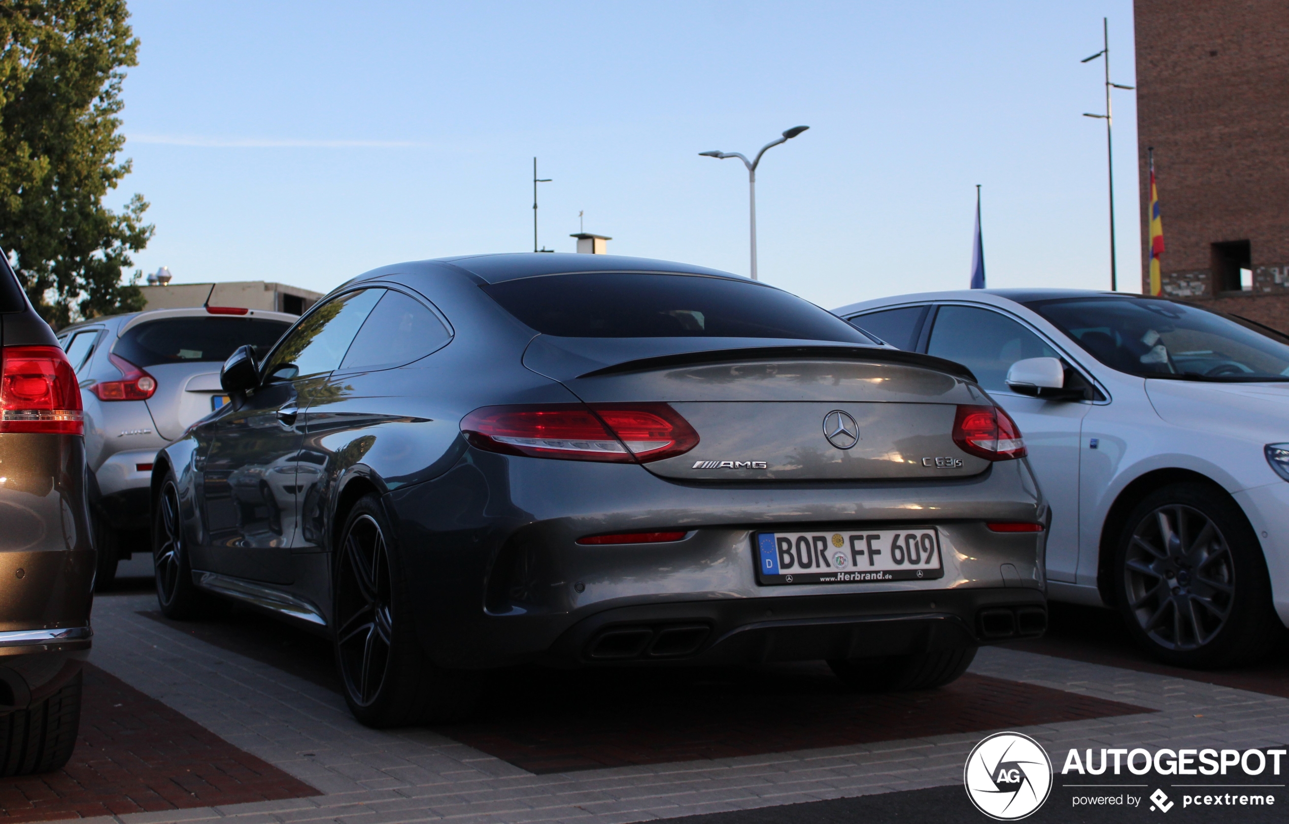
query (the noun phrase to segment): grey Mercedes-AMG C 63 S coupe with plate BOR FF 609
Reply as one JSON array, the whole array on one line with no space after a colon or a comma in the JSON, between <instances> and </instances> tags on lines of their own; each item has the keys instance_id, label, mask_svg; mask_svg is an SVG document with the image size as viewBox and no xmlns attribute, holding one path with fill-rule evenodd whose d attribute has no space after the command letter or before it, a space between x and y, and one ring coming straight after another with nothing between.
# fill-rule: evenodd
<instances>
[{"instance_id":1,"label":"grey Mercedes-AMG C 63 S coupe with plate BOR FF 609","mask_svg":"<svg viewBox=\"0 0 1289 824\"><path fill-rule=\"evenodd\" d=\"M927 689L1045 627L1048 508L971 371L744 277L396 264L222 382L153 468L161 607L326 634L373 726L461 717L523 663Z\"/></svg>"}]
</instances>

